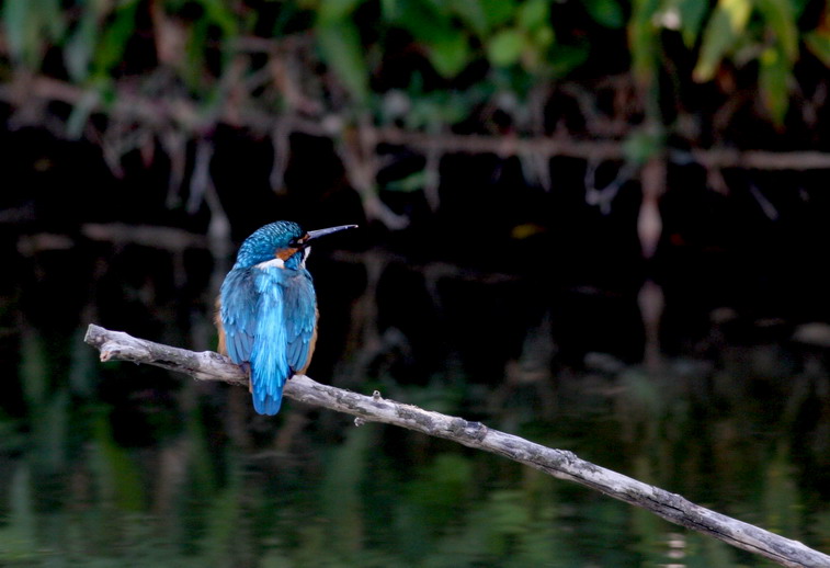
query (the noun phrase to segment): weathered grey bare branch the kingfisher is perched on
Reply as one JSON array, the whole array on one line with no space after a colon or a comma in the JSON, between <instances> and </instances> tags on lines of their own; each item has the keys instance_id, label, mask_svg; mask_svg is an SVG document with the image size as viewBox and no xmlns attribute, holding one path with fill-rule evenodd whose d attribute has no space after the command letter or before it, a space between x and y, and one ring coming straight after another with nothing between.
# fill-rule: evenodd
<instances>
[{"instance_id":1,"label":"weathered grey bare branch the kingfisher is perched on","mask_svg":"<svg viewBox=\"0 0 830 568\"><path fill-rule=\"evenodd\" d=\"M134 338L90 325L84 341L101 352L101 361L146 363L185 373L200 380L247 385L245 372L211 351L184 349ZM735 547L764 556L782 566L828 567L830 556L758 526L700 507L687 499L580 459L572 452L546 447L487 428L480 422L423 410L384 399L379 393L364 396L322 385L298 375L287 382L285 396L357 417L355 424L383 422L504 456L548 475L583 485L609 497L646 509L667 521L713 536Z\"/></svg>"}]
</instances>

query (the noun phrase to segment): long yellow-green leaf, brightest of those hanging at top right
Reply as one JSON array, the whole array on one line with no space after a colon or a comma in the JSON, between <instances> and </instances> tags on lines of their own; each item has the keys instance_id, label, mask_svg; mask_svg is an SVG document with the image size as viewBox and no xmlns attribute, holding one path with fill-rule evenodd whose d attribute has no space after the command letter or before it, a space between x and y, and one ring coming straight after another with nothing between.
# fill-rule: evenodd
<instances>
[{"instance_id":1,"label":"long yellow-green leaf, brightest of those hanging at top right","mask_svg":"<svg viewBox=\"0 0 830 568\"><path fill-rule=\"evenodd\" d=\"M746 30L751 11L751 0L718 0L703 32L701 56L692 73L695 81L708 81L715 76L724 55Z\"/></svg>"}]
</instances>

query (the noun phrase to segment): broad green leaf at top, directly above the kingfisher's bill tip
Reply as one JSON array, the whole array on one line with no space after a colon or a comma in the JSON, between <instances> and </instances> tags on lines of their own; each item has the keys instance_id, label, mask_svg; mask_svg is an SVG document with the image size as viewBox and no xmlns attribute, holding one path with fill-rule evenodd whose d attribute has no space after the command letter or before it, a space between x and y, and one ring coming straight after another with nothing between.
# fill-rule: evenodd
<instances>
[{"instance_id":1,"label":"broad green leaf at top, directly above the kingfisher's bill tip","mask_svg":"<svg viewBox=\"0 0 830 568\"><path fill-rule=\"evenodd\" d=\"M318 22L317 45L326 63L357 102L368 96L368 66L357 27L349 19Z\"/></svg>"}]
</instances>

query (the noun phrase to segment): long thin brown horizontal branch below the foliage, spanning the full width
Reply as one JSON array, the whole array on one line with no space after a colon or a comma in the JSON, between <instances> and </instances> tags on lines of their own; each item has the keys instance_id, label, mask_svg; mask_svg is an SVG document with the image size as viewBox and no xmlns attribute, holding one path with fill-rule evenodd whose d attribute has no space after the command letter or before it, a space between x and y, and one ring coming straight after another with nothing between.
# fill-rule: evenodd
<instances>
[{"instance_id":1,"label":"long thin brown horizontal branch below the foliage, spanning the full width","mask_svg":"<svg viewBox=\"0 0 830 568\"><path fill-rule=\"evenodd\" d=\"M93 93L94 94L94 93ZM92 96L88 90L44 76L14 77L0 84L0 101L14 107L60 101L77 105ZM276 123L288 134L337 138L341 134L342 117L337 114L304 118L298 113L276 114L247 105L237 109L226 101L213 114L201 114L197 105L183 96L167 96L161 100L136 94L135 90L120 89L114 103L104 106L99 99L92 100L90 111L105 113L120 120L136 122L159 132L174 127L187 133L209 129L217 122L246 126L269 132ZM234 106L230 109L229 106ZM593 160L624 160L623 141L617 138L582 139L567 134L553 136L485 136L442 133L433 135L394 127L363 126L364 135L375 144L406 146L422 152L444 154L493 154L501 157L534 155L543 158L568 157ZM747 168L754 170L826 170L830 169L830 152L736 150L715 147L691 151L670 150L667 159L675 163L698 163L706 169Z\"/></svg>"}]
</instances>

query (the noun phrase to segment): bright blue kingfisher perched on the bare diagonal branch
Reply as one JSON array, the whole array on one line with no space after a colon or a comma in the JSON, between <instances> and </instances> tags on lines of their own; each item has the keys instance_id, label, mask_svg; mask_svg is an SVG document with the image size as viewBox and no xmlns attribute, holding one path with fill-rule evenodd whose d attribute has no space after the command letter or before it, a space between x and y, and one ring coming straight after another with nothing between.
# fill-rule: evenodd
<instances>
[{"instance_id":1,"label":"bright blue kingfisher perched on the bare diagonal branch","mask_svg":"<svg viewBox=\"0 0 830 568\"><path fill-rule=\"evenodd\" d=\"M218 351L250 376L253 408L276 414L285 382L305 374L317 341L317 297L306 260L314 239L356 225L305 231L288 220L245 239L216 302Z\"/></svg>"}]
</instances>

